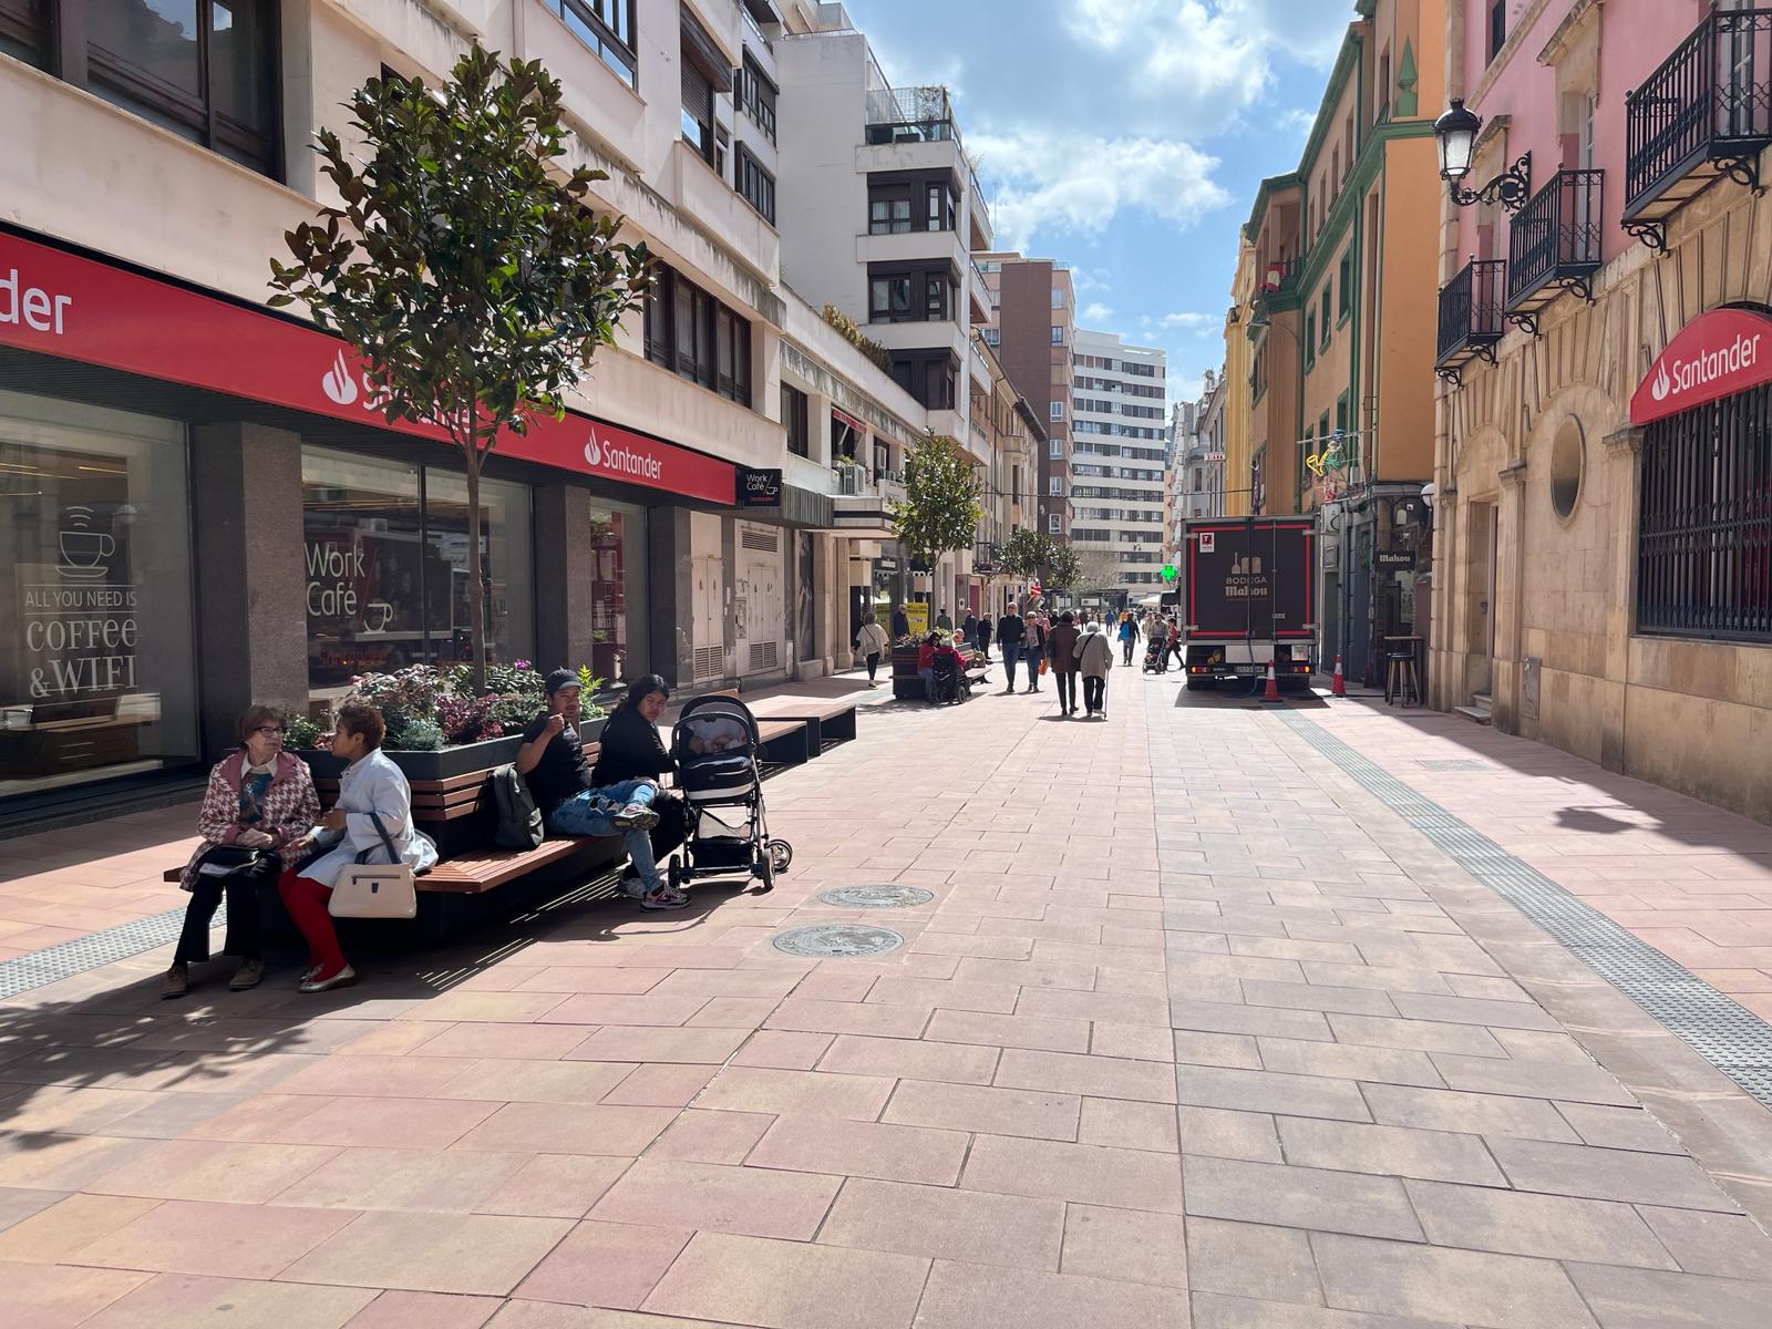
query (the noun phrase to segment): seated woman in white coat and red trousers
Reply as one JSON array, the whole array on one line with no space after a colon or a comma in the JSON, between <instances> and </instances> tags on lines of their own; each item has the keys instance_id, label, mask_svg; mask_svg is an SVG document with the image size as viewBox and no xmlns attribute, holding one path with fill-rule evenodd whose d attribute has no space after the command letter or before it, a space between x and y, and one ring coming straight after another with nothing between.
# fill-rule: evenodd
<instances>
[{"instance_id":1,"label":"seated woman in white coat and red trousers","mask_svg":"<svg viewBox=\"0 0 1772 1329\"><path fill-rule=\"evenodd\" d=\"M381 751L383 737L386 725L369 702L346 702L338 707L331 750L333 757L349 762L338 780L338 803L303 842L291 845L292 854L301 849L328 852L285 872L276 882L289 918L308 943L303 992L324 992L356 982L356 969L338 950L338 930L326 905L338 875L358 861L358 854L367 852L365 863L388 863L388 847L381 838L386 831L400 861L413 872L424 872L438 861L438 847L413 828L413 789L400 767ZM376 819L381 820L381 829L376 828Z\"/></svg>"}]
</instances>

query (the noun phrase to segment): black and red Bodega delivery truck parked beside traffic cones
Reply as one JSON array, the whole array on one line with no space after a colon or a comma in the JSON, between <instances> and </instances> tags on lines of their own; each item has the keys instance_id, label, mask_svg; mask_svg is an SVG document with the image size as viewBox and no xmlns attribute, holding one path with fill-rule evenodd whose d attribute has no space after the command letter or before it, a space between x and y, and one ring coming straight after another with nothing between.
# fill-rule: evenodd
<instances>
[{"instance_id":1,"label":"black and red Bodega delivery truck parked beside traffic cones","mask_svg":"<svg viewBox=\"0 0 1772 1329\"><path fill-rule=\"evenodd\" d=\"M1182 533L1182 668L1306 686L1317 668L1315 517L1198 517Z\"/></svg>"}]
</instances>

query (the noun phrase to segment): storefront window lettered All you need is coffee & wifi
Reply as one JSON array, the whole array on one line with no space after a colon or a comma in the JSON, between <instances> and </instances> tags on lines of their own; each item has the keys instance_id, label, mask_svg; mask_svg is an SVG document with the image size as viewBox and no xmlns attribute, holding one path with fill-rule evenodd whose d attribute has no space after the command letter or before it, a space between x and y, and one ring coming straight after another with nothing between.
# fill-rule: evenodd
<instances>
[{"instance_id":1,"label":"storefront window lettered All you need is coffee & wifi","mask_svg":"<svg viewBox=\"0 0 1772 1329\"><path fill-rule=\"evenodd\" d=\"M197 760L184 425L0 392L0 797Z\"/></svg>"}]
</instances>

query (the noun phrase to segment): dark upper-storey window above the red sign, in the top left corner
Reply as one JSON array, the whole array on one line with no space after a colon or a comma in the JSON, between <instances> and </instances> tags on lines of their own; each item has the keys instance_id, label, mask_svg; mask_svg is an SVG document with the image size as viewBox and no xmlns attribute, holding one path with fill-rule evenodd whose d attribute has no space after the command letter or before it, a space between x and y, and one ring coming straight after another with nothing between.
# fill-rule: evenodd
<instances>
[{"instance_id":1,"label":"dark upper-storey window above the red sign, in the top left corner","mask_svg":"<svg viewBox=\"0 0 1772 1329\"><path fill-rule=\"evenodd\" d=\"M28 4L0 0L0 14ZM58 18L76 5L46 0L37 12ZM278 174L275 0L85 0L80 9L96 94L243 167ZM18 23L0 18L0 34L7 30Z\"/></svg>"}]
</instances>

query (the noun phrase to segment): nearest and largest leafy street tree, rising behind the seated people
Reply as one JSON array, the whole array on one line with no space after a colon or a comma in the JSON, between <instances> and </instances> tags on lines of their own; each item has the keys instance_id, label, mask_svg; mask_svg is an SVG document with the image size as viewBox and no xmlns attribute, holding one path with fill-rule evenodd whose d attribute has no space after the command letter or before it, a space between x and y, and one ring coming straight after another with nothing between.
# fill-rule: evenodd
<instances>
[{"instance_id":1,"label":"nearest and largest leafy street tree, rising behind the seated people","mask_svg":"<svg viewBox=\"0 0 1772 1329\"><path fill-rule=\"evenodd\" d=\"M560 83L540 62L473 46L448 83L386 74L346 103L361 156L321 129L321 172L340 204L271 260L273 305L303 301L363 361L388 424L441 429L468 471L473 686L486 689L480 470L500 438L565 415L601 346L650 284L645 245L617 239L565 172Z\"/></svg>"}]
</instances>

